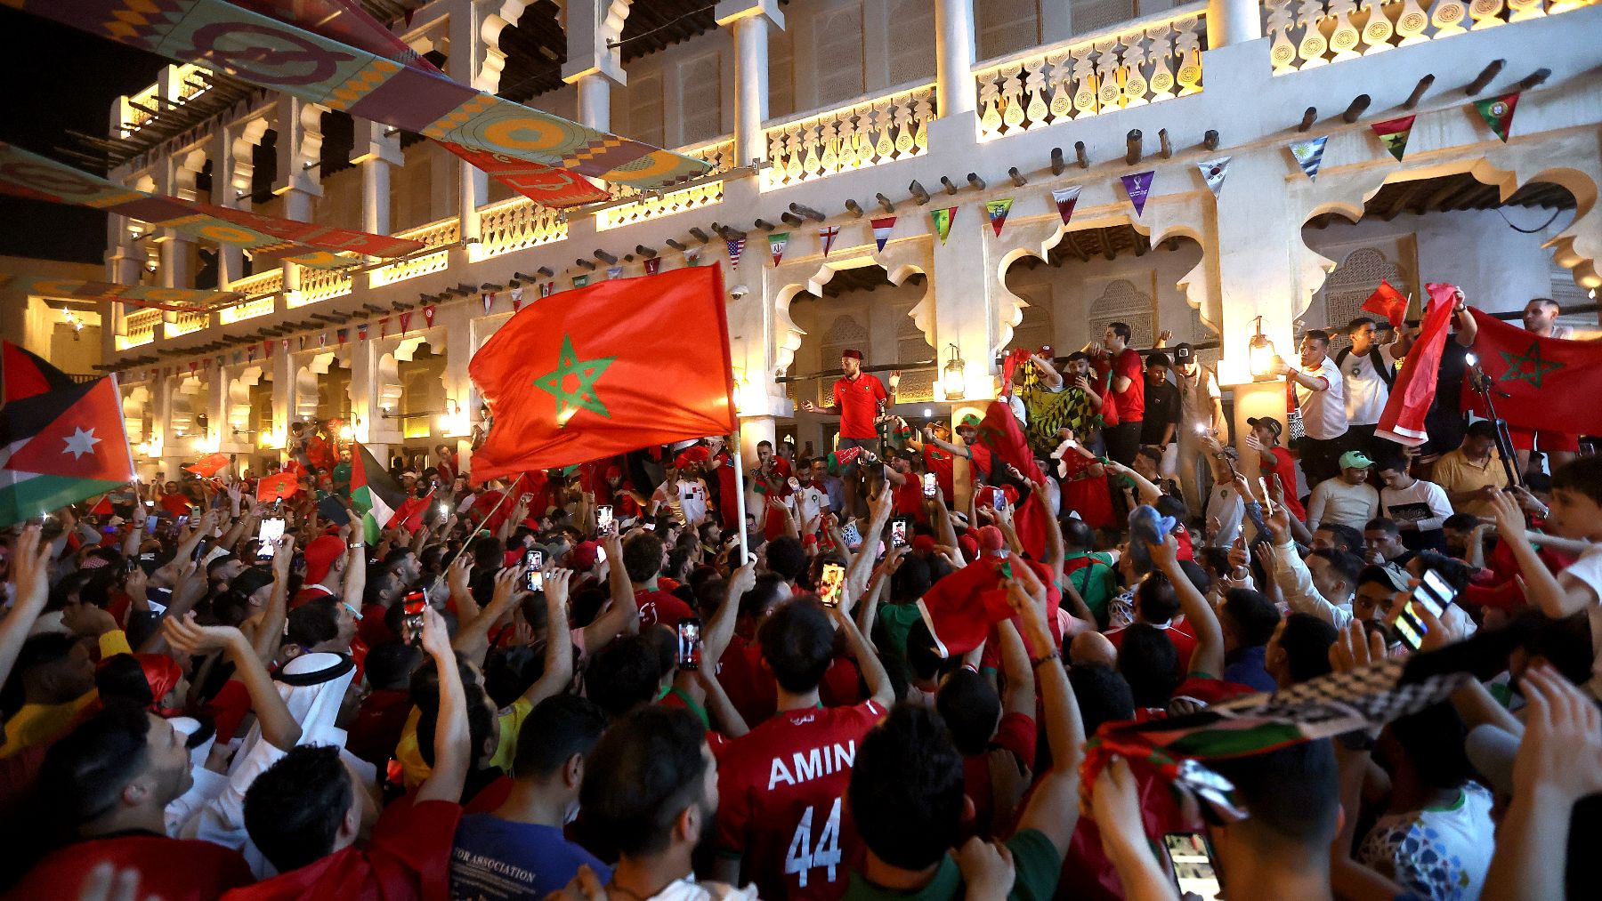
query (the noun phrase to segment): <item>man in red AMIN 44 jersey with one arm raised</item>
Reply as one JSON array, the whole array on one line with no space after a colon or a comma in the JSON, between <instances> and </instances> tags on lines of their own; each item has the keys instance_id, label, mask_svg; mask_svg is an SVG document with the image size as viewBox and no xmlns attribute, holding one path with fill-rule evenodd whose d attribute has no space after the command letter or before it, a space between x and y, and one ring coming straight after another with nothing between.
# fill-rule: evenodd
<instances>
[{"instance_id":1,"label":"man in red AMIN 44 jersey with one arm raised","mask_svg":"<svg viewBox=\"0 0 1602 901\"><path fill-rule=\"evenodd\" d=\"M843 795L857 744L896 691L847 613L846 603L825 608L799 597L763 623L756 639L779 682L779 714L734 739L719 759L714 875L755 882L763 898L833 901L862 856ZM835 629L844 632L873 691L854 707L819 703Z\"/></svg>"}]
</instances>

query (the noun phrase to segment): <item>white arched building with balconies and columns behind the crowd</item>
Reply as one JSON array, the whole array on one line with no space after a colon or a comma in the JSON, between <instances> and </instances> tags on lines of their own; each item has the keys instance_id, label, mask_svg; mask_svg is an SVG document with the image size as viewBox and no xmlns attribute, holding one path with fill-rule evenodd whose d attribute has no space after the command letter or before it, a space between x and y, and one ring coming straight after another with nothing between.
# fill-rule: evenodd
<instances>
[{"instance_id":1,"label":"white arched building with balconies and columns behind the crowd","mask_svg":"<svg viewBox=\"0 0 1602 901\"><path fill-rule=\"evenodd\" d=\"M1259 317L1288 354L1296 330L1344 325L1379 278L1415 298L1455 282L1490 310L1583 304L1602 285L1602 8L1586 0L367 6L460 82L729 178L559 214L417 136L170 67L112 110L111 138L133 149L117 181L431 248L344 274L247 275L237 253L114 216L111 280L247 298L205 317L106 315L146 475L210 450L276 455L308 416L348 418L389 450L460 438L466 451L468 360L511 315L513 282L538 304L541 283L634 277L652 256L727 266L718 226L748 240L727 274L743 288L727 312L747 445L825 446L825 424L795 402L827 390L809 376L851 346L907 370L904 413L918 419L992 397L1008 347L1065 354L1121 318L1139 347L1161 330L1205 344L1240 422L1283 416L1282 382L1248 366ZM1472 101L1511 91L1504 142ZM1400 115L1418 117L1402 162L1370 128ZM1317 136L1309 179L1288 146ZM1198 163L1219 157L1214 197ZM1120 176L1147 170L1137 214ZM1053 189L1070 186L1064 224ZM1012 198L1000 235L985 214L996 198ZM952 206L940 242L929 213ZM888 214L878 250L870 219ZM827 258L822 227L839 229ZM771 234L790 235L777 266ZM953 358L961 397L948 397Z\"/></svg>"}]
</instances>

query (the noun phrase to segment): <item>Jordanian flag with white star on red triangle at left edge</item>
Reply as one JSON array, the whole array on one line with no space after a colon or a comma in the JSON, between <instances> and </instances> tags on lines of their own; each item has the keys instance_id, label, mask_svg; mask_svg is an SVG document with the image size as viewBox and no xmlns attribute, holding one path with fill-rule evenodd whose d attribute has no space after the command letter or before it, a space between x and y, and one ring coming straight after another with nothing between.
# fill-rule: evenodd
<instances>
[{"instance_id":1,"label":"Jordanian flag with white star on red triangle at left edge","mask_svg":"<svg viewBox=\"0 0 1602 901\"><path fill-rule=\"evenodd\" d=\"M131 480L115 376L0 406L0 528Z\"/></svg>"}]
</instances>

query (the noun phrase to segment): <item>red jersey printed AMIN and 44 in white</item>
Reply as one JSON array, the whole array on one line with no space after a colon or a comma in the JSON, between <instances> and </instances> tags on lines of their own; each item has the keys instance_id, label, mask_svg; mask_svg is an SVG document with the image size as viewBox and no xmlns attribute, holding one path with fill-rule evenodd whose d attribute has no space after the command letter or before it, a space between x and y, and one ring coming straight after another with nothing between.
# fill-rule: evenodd
<instances>
[{"instance_id":1,"label":"red jersey printed AMIN and 44 in white","mask_svg":"<svg viewBox=\"0 0 1602 901\"><path fill-rule=\"evenodd\" d=\"M718 759L718 851L743 859L742 885L775 899L846 893L863 858L846 786L881 717L873 701L785 711L729 743Z\"/></svg>"}]
</instances>

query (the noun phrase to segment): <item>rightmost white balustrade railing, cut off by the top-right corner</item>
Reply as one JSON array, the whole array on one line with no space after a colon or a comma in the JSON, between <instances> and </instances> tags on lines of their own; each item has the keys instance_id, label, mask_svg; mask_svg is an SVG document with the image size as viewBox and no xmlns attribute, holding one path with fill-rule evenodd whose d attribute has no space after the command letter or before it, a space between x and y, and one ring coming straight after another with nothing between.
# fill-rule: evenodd
<instances>
[{"instance_id":1,"label":"rightmost white balustrade railing, cut off by the top-right corner","mask_svg":"<svg viewBox=\"0 0 1602 901\"><path fill-rule=\"evenodd\" d=\"M1274 74L1556 16L1597 0L1266 0Z\"/></svg>"}]
</instances>

